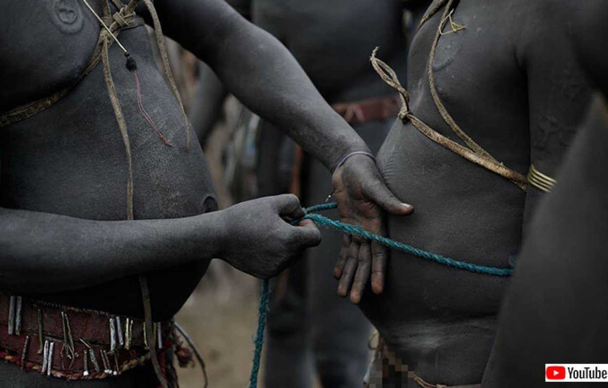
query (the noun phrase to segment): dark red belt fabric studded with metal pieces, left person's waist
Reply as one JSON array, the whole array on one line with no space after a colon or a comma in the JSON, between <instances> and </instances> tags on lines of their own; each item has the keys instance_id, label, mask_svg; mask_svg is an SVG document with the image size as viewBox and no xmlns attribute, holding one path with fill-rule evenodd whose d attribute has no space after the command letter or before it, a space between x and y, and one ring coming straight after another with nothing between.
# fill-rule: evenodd
<instances>
[{"instance_id":1,"label":"dark red belt fabric studded with metal pieces, left person's waist","mask_svg":"<svg viewBox=\"0 0 608 388\"><path fill-rule=\"evenodd\" d=\"M79 310L73 307L50 305L23 298L21 305L21 330L19 334L10 335L8 333L9 304L10 297L0 294L0 359L15 362L19 366L22 365L23 369L42 370L44 355L43 350L40 349L38 335L38 310L41 311L43 345L44 341L55 342L51 364L51 375L55 377L67 379L105 378L109 374L104 373L106 368L104 367L102 352L109 353L109 369L112 371L116 370L117 375L143 364L143 362L150 358L149 352L145 349L143 342L144 324L141 319L132 320L130 349L124 349L117 342L117 349L111 352L109 319L116 318L116 316L103 311ZM69 321L74 350L78 355L74 358L74 361L68 357L70 353L68 349L71 342L68 340L64 344L62 312ZM13 322L15 322L16 318L15 313ZM123 338L125 338L126 318L120 317L120 319L122 322ZM173 333L171 333L172 325L165 323L161 327L161 338L164 344L163 349L165 349L172 345L172 342L168 341L173 338ZM27 341L27 349L25 349L24 353L24 345L26 345L26 337L28 336L29 341ZM83 344L80 339L83 339L90 347ZM95 370L89 349L94 352L100 369L99 372ZM85 371L85 351L88 352L88 376L83 374ZM157 350L157 352L161 354L162 350ZM21 359L23 354L25 354L25 362Z\"/></svg>"}]
</instances>

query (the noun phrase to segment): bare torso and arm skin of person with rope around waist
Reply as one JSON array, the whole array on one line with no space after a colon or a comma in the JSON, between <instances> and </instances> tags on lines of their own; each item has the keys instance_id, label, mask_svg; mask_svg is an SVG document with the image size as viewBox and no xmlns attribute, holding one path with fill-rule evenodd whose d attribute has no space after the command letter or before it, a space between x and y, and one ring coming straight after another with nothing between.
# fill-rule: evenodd
<instances>
[{"instance_id":1,"label":"bare torso and arm skin of person with rope around waist","mask_svg":"<svg viewBox=\"0 0 608 388\"><path fill-rule=\"evenodd\" d=\"M413 39L407 89L416 117L460 141L435 107L426 71L442 13ZM441 36L433 66L447 111L506 166L526 174L534 163L554 175L567 149L561 134L576 131L590 95L568 44L570 6L461 0L452 19L466 29ZM553 121L558 135L535 146L544 123ZM410 123L395 123L378 163L389 188L416 207L410 217L389 217L389 236L475 264L508 268L522 229L544 196L533 187L523 192L447 151ZM476 384L482 381L508 281L393 250L384 292L366 293L361 308L409 370L433 384Z\"/></svg>"}]
</instances>

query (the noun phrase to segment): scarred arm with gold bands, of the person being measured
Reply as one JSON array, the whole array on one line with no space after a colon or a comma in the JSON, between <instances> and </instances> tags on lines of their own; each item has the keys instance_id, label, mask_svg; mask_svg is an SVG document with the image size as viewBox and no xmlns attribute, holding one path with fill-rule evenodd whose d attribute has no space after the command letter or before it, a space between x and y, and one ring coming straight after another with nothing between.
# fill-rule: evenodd
<instances>
[{"instance_id":1,"label":"scarred arm with gold bands, of the person being measured","mask_svg":"<svg viewBox=\"0 0 608 388\"><path fill-rule=\"evenodd\" d=\"M517 57L525 69L530 120L530 163L555 177L590 101L591 89L567 29L575 7L567 2L542 1L526 5ZM564 26L555 28L555 26ZM546 193L528 185L523 217L524 237Z\"/></svg>"}]
</instances>

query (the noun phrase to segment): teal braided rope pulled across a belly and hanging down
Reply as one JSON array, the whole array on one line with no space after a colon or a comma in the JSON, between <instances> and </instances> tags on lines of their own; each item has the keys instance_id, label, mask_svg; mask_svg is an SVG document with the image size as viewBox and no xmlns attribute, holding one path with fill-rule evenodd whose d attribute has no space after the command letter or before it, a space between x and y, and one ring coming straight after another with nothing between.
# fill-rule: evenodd
<instances>
[{"instance_id":1,"label":"teal braided rope pulled across a belly and hanging down","mask_svg":"<svg viewBox=\"0 0 608 388\"><path fill-rule=\"evenodd\" d=\"M313 220L319 226L328 226L340 230L351 236L361 236L364 239L375 241L385 245L386 247L393 248L399 251L403 251L414 256L418 256L421 259L431 260L438 264L447 265L447 267L457 268L459 270L466 270L474 273L483 273L492 276L510 276L513 274L511 268L497 268L488 267L486 265L472 264L462 260L451 259L440 254L431 253L429 251L414 248L411 245L404 244L395 240L391 240L388 237L379 236L378 234L370 233L361 226L351 225L350 223L344 223L336 220L323 217L320 214L314 212L335 209L337 208L336 202L322 203L321 205L311 206L305 209L305 216L300 219L293 220L292 225L296 225L298 222L309 219ZM264 326L266 325L266 312L268 311L268 280L264 280L262 285L262 294L260 298L260 316L258 318L258 330L255 338L255 350L254 350L254 363L251 369L250 376L250 388L257 388L258 371L260 369L260 358L262 352L262 345L264 343Z\"/></svg>"}]
</instances>

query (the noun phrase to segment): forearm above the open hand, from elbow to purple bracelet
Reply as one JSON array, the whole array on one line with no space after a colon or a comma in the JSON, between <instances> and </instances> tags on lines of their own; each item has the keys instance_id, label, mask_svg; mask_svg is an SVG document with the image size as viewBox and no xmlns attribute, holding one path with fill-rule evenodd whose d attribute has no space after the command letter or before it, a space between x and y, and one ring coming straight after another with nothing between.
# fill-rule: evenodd
<instances>
[{"instance_id":1,"label":"forearm above the open hand, from elbow to purple bracelet","mask_svg":"<svg viewBox=\"0 0 608 388\"><path fill-rule=\"evenodd\" d=\"M246 30L230 36L212 63L237 98L331 171L348 152L368 151L277 39L257 28Z\"/></svg>"}]
</instances>

